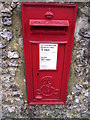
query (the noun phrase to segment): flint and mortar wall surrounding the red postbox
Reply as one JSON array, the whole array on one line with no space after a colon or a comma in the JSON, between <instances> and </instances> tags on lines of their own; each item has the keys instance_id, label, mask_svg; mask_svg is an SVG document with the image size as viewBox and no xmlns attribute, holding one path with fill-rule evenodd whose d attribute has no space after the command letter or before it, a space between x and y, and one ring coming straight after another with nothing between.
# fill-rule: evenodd
<instances>
[{"instance_id":1,"label":"flint and mortar wall surrounding the red postbox","mask_svg":"<svg viewBox=\"0 0 90 120\"><path fill-rule=\"evenodd\" d=\"M25 1L25 0L21 0ZM0 118L89 118L90 3L78 2L66 105L28 106L21 1L0 1ZM31 1L31 0L27 0ZM32 0L67 2L65 0Z\"/></svg>"}]
</instances>

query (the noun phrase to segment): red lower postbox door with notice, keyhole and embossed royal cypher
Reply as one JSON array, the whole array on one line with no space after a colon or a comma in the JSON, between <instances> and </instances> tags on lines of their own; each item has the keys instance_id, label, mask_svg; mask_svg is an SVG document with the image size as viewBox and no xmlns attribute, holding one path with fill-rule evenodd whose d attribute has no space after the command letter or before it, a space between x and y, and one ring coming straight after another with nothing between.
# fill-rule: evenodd
<instances>
[{"instance_id":1,"label":"red lower postbox door with notice, keyhole and embossed royal cypher","mask_svg":"<svg viewBox=\"0 0 90 120\"><path fill-rule=\"evenodd\" d=\"M31 43L35 100L60 100L65 43Z\"/></svg>"}]
</instances>

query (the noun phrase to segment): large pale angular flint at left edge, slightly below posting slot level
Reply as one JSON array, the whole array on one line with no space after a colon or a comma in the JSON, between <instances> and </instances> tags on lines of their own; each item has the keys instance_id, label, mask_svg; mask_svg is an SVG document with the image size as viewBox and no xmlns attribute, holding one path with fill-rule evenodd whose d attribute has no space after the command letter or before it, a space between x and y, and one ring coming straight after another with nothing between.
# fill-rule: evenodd
<instances>
[{"instance_id":1,"label":"large pale angular flint at left edge, slightly below posting slot level","mask_svg":"<svg viewBox=\"0 0 90 120\"><path fill-rule=\"evenodd\" d=\"M0 32L0 37L7 39L10 41L13 37L12 32L9 32L6 28L3 30L3 32Z\"/></svg>"}]
</instances>

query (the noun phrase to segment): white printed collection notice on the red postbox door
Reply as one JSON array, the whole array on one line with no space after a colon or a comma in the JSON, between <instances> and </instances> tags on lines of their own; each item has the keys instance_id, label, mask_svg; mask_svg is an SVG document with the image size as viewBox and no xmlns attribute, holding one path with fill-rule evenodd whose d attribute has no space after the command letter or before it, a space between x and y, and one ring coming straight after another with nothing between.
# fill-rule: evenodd
<instances>
[{"instance_id":1,"label":"white printed collection notice on the red postbox door","mask_svg":"<svg viewBox=\"0 0 90 120\"><path fill-rule=\"evenodd\" d=\"M39 44L39 69L56 70L58 44Z\"/></svg>"}]
</instances>

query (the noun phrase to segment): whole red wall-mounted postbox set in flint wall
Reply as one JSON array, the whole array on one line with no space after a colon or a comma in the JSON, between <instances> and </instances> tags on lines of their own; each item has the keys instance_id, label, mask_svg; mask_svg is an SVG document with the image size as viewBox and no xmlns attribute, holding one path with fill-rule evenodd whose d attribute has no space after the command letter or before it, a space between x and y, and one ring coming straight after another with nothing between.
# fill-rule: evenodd
<instances>
[{"instance_id":1,"label":"whole red wall-mounted postbox set in flint wall","mask_svg":"<svg viewBox=\"0 0 90 120\"><path fill-rule=\"evenodd\" d=\"M64 104L76 21L76 4L22 2L29 104Z\"/></svg>"}]
</instances>

